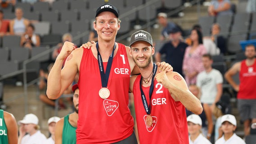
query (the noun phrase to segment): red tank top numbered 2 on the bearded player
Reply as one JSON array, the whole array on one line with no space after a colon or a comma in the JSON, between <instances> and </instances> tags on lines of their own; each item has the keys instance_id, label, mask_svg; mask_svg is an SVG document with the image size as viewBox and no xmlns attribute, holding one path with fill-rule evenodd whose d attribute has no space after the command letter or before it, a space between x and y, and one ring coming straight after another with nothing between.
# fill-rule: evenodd
<instances>
[{"instance_id":1,"label":"red tank top numbered 2 on the bearded player","mask_svg":"<svg viewBox=\"0 0 256 144\"><path fill-rule=\"evenodd\" d=\"M146 125L146 110L142 103L140 91L141 75L133 84L134 105L138 134L141 144L189 144L187 117L185 107L181 102L175 102L169 90L154 81L151 96L152 126ZM142 87L149 104L150 87Z\"/></svg>"}]
</instances>

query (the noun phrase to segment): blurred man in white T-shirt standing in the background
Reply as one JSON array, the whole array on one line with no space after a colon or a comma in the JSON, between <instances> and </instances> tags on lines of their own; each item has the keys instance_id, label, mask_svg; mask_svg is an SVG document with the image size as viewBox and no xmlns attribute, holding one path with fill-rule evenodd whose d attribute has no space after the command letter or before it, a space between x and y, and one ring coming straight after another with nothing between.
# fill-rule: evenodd
<instances>
[{"instance_id":1,"label":"blurred man in white T-shirt standing in the background","mask_svg":"<svg viewBox=\"0 0 256 144\"><path fill-rule=\"evenodd\" d=\"M197 75L197 86L201 90L201 102L210 105L211 111L215 108L222 95L222 74L211 67L213 59L210 54L202 56L204 71Z\"/></svg>"}]
</instances>

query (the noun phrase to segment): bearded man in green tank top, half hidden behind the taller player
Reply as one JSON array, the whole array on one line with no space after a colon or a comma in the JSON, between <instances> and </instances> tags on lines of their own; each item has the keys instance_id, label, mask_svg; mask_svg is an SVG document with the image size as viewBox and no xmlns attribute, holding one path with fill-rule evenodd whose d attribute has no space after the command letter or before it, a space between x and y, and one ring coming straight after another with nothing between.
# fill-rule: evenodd
<instances>
[{"instance_id":1,"label":"bearded man in green tank top, half hidden behind the taller player","mask_svg":"<svg viewBox=\"0 0 256 144\"><path fill-rule=\"evenodd\" d=\"M55 126L55 144L76 144L76 130L78 123L78 84L72 86L75 112L61 118Z\"/></svg>"}]
</instances>

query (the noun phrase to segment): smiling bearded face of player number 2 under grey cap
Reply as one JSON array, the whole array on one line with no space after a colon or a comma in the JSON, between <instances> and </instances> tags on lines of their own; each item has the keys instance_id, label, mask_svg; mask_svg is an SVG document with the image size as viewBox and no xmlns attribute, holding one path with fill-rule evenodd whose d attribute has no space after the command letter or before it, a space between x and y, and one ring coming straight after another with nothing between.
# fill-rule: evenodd
<instances>
[{"instance_id":1,"label":"smiling bearded face of player number 2 under grey cap","mask_svg":"<svg viewBox=\"0 0 256 144\"><path fill-rule=\"evenodd\" d=\"M146 41L137 41L131 45L130 55L140 68L148 67L152 61L153 54L155 54L155 48Z\"/></svg>"}]
</instances>

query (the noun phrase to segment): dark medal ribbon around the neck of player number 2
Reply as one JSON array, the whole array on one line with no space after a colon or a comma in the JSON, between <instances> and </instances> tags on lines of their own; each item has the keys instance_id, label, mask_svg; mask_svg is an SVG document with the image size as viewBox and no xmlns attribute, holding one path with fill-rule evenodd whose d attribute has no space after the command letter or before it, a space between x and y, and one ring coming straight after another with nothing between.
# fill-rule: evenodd
<instances>
[{"instance_id":1,"label":"dark medal ribbon around the neck of player number 2","mask_svg":"<svg viewBox=\"0 0 256 144\"><path fill-rule=\"evenodd\" d=\"M156 73L156 64L153 63L153 76L152 76L152 80L151 80L151 85L150 85L150 89L149 89L149 104L147 104L146 102L146 96L142 90L142 77L141 77L141 81L140 81L140 90L141 90L141 96L142 96L142 103L144 105L144 108L146 110L146 114L151 114L150 112L150 103L151 103L151 96L152 96L152 93L153 93L153 90L154 90L154 77L155 77L155 73Z\"/></svg>"}]
</instances>

